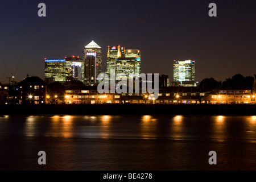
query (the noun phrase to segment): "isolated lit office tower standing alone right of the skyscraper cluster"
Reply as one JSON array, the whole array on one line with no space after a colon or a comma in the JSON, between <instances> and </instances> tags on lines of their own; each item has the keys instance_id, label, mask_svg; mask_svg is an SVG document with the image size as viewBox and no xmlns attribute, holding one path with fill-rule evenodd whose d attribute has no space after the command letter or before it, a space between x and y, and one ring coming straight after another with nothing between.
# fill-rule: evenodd
<instances>
[{"instance_id":1,"label":"isolated lit office tower standing alone right of the skyscraper cluster","mask_svg":"<svg viewBox=\"0 0 256 182\"><path fill-rule=\"evenodd\" d=\"M174 60L174 81L195 81L196 61L176 61Z\"/></svg>"}]
</instances>

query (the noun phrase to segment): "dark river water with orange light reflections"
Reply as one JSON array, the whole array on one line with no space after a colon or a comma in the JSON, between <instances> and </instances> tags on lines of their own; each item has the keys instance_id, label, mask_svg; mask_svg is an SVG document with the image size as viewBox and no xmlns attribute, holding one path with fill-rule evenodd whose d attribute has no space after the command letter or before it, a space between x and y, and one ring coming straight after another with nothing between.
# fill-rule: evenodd
<instances>
[{"instance_id":1,"label":"dark river water with orange light reflections","mask_svg":"<svg viewBox=\"0 0 256 182\"><path fill-rule=\"evenodd\" d=\"M1 170L256 170L256 116L2 115L0 147Z\"/></svg>"}]
</instances>

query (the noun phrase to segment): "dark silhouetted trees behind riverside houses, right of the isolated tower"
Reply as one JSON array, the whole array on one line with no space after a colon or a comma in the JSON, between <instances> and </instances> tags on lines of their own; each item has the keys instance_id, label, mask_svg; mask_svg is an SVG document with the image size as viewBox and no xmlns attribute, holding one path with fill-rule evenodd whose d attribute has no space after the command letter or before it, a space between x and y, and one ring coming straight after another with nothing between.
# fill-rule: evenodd
<instances>
[{"instance_id":1,"label":"dark silhouetted trees behind riverside houses, right of the isolated tower","mask_svg":"<svg viewBox=\"0 0 256 182\"><path fill-rule=\"evenodd\" d=\"M237 74L225 81L216 81L214 78L204 78L198 86L199 89L252 89L254 77Z\"/></svg>"}]
</instances>

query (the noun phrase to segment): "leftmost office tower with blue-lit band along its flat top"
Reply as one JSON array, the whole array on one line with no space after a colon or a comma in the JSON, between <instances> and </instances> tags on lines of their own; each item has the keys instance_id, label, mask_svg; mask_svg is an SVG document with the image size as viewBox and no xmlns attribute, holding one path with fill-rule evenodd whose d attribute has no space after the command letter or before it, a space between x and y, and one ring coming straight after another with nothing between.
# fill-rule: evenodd
<instances>
[{"instance_id":1,"label":"leftmost office tower with blue-lit band along its flat top","mask_svg":"<svg viewBox=\"0 0 256 182\"><path fill-rule=\"evenodd\" d=\"M44 60L44 80L47 84L59 81L65 82L65 60L45 59Z\"/></svg>"}]
</instances>

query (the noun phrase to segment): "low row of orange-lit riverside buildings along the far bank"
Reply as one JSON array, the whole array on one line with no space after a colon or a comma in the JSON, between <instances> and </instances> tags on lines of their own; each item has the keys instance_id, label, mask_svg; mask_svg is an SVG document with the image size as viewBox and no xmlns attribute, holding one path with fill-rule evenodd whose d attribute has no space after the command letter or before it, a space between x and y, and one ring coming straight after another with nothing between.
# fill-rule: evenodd
<instances>
[{"instance_id":1,"label":"low row of orange-lit riverside buildings along the far bank","mask_svg":"<svg viewBox=\"0 0 256 182\"><path fill-rule=\"evenodd\" d=\"M69 86L56 96L47 94L39 77L27 77L18 85L0 85L0 104L256 104L256 79L252 88L240 90L199 90L168 86L159 89L158 98L148 93L103 93L97 86ZM53 101L50 102L51 98ZM63 99L60 99L63 98Z\"/></svg>"}]
</instances>

